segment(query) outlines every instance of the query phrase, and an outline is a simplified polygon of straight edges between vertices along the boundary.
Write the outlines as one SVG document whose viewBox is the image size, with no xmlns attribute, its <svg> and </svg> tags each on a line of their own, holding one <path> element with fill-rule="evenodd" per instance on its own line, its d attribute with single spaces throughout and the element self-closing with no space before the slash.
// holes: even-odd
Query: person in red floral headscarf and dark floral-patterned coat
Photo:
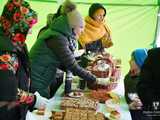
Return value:
<svg viewBox="0 0 160 120">
<path fill-rule="evenodd" d="M 26 112 L 48 100 L 29 93 L 30 68 L 25 44 L 37 22 L 28 2 L 8 0 L 0 17 L 0 120 L 25 120 Z"/>
</svg>

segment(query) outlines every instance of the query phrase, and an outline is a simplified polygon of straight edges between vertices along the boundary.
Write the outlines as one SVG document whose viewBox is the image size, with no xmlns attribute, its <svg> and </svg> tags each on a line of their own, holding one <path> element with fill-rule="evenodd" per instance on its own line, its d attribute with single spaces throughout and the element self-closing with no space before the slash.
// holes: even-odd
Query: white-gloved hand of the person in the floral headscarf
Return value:
<svg viewBox="0 0 160 120">
<path fill-rule="evenodd" d="M 42 97 L 38 92 L 35 92 L 36 102 L 34 107 L 38 109 L 45 109 L 46 105 L 49 103 L 49 100 L 45 97 Z"/>
</svg>

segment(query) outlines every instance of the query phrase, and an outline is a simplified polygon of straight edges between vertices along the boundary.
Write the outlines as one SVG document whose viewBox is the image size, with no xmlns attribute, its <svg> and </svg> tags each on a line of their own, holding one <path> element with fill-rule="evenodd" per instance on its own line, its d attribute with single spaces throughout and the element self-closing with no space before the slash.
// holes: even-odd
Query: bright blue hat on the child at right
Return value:
<svg viewBox="0 0 160 120">
<path fill-rule="evenodd" d="M 141 68 L 147 57 L 147 49 L 136 49 L 133 51 L 132 56 L 136 64 Z"/>
</svg>

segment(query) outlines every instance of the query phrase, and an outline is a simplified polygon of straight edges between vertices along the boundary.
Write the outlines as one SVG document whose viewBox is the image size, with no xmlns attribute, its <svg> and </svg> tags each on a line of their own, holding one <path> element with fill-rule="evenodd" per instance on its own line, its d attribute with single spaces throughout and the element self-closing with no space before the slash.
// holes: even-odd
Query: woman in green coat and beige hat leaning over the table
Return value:
<svg viewBox="0 0 160 120">
<path fill-rule="evenodd" d="M 70 70 L 74 75 L 95 83 L 95 76 L 78 65 L 72 52 L 83 26 L 82 16 L 73 9 L 55 18 L 38 37 L 30 52 L 32 91 L 50 97 L 48 87 L 55 79 L 57 68 Z"/>
</svg>

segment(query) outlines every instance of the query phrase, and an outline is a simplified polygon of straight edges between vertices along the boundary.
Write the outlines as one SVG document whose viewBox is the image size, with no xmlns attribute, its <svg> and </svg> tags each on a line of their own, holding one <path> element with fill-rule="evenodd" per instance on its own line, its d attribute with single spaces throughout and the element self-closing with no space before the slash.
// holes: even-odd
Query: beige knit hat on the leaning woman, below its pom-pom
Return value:
<svg viewBox="0 0 160 120">
<path fill-rule="evenodd" d="M 71 28 L 75 28 L 76 26 L 79 26 L 79 27 L 84 26 L 84 20 L 79 11 L 73 10 L 67 13 L 67 17 L 68 17 L 68 23 Z"/>
</svg>

